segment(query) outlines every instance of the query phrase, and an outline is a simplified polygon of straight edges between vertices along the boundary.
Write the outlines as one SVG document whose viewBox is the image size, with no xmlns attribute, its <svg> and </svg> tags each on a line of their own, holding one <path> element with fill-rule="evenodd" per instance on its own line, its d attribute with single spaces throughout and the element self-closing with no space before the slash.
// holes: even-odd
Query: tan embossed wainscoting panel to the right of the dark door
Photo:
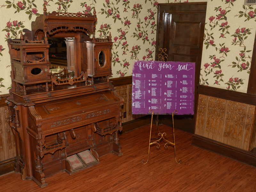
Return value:
<svg viewBox="0 0 256 192">
<path fill-rule="evenodd" d="M 250 151 L 255 106 L 199 94 L 195 134 Z"/>
</svg>

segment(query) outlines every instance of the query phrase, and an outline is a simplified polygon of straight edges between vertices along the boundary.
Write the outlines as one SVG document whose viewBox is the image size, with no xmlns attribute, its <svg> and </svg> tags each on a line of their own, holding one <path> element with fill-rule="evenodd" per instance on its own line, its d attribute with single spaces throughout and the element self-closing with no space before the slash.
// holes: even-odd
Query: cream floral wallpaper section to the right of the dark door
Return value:
<svg viewBox="0 0 256 192">
<path fill-rule="evenodd" d="M 243 4 L 242 0 L 208 1 L 200 84 L 247 91 L 256 6 Z"/>
</svg>

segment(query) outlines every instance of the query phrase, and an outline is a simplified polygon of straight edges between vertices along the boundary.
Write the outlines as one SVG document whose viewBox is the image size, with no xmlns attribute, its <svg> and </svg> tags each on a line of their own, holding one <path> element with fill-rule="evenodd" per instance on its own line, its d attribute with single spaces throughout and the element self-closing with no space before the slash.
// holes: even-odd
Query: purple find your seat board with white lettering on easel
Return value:
<svg viewBox="0 0 256 192">
<path fill-rule="evenodd" d="M 195 63 L 135 61 L 132 114 L 194 115 Z"/>
</svg>

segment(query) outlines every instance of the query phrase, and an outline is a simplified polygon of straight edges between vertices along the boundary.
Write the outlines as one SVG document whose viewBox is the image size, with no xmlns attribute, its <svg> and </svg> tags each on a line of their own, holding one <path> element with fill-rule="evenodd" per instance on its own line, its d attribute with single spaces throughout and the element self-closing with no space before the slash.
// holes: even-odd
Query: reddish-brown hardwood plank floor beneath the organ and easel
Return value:
<svg viewBox="0 0 256 192">
<path fill-rule="evenodd" d="M 155 126 L 152 136 L 155 135 Z M 159 126 L 172 140 L 172 128 Z M 153 131 L 154 130 L 154 131 Z M 123 156 L 108 154 L 100 164 L 73 175 L 61 172 L 46 178 L 48 186 L 39 188 L 34 181 L 21 180 L 20 174 L 0 177 L 0 191 L 25 192 L 253 192 L 256 191 L 256 168 L 190 145 L 192 134 L 175 129 L 174 148 L 150 147 L 147 160 L 150 125 L 120 135 Z"/>
</svg>

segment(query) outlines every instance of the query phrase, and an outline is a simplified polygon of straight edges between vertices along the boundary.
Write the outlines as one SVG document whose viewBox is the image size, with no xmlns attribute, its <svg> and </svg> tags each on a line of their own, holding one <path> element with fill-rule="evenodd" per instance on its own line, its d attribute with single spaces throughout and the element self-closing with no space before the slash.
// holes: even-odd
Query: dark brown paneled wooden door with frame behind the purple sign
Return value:
<svg viewBox="0 0 256 192">
<path fill-rule="evenodd" d="M 194 115 L 175 116 L 174 127 L 194 133 L 204 24 L 207 2 L 158 4 L 156 57 L 166 48 L 168 61 L 196 63 Z M 172 126 L 172 116 L 162 116 L 162 124 Z"/>
</svg>

